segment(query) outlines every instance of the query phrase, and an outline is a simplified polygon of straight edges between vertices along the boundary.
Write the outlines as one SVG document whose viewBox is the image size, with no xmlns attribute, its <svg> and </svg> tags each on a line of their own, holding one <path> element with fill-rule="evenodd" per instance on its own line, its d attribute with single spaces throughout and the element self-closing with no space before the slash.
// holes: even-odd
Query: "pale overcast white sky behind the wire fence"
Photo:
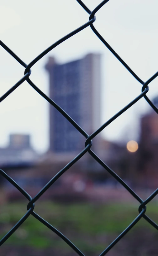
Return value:
<svg viewBox="0 0 158 256">
<path fill-rule="evenodd" d="M 85 0 L 94 9 L 98 0 Z M 96 14 L 94 26 L 144 81 L 158 70 L 158 1 L 110 0 Z M 67 33 L 88 21 L 89 15 L 75 0 L 5 0 L 0 4 L 0 36 L 25 63 Z M 122 66 L 88 27 L 57 46 L 32 67 L 31 79 L 48 94 L 48 74 L 44 66 L 49 56 L 59 62 L 71 61 L 89 52 L 102 57 L 102 124 L 141 93 L 141 84 Z M 24 74 L 18 64 L 0 48 L 0 95 Z M 150 84 L 148 96 L 158 94 L 157 81 Z M 108 140 L 136 139 L 138 120 L 149 110 L 141 99 L 103 132 Z M 24 82 L 0 103 L 0 146 L 8 143 L 13 132 L 30 133 L 35 149 L 49 145 L 48 103 Z M 98 127 L 101 124 L 98 124 Z"/>
</svg>

